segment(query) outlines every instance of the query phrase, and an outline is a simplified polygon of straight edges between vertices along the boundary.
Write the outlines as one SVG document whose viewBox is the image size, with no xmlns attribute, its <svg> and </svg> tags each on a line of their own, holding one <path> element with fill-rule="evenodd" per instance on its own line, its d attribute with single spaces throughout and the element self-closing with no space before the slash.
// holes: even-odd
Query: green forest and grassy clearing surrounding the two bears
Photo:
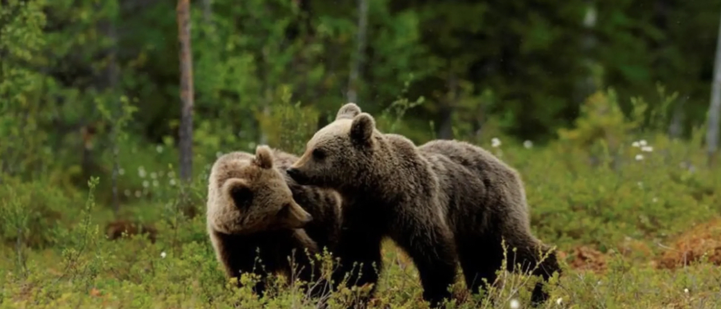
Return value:
<svg viewBox="0 0 721 309">
<path fill-rule="evenodd" d="M 721 1 L 0 0 L 0 309 L 320 308 L 225 276 L 208 176 L 347 102 L 518 170 L 563 269 L 541 308 L 721 307 Z M 369 308 L 428 308 L 382 255 Z M 531 308 L 536 279 L 445 308 Z"/>
</svg>

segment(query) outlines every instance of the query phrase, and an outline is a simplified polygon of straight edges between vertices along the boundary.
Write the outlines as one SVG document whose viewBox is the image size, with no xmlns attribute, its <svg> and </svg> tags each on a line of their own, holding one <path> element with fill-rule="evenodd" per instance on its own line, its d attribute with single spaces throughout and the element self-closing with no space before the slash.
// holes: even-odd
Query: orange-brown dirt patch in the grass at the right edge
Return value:
<svg viewBox="0 0 721 309">
<path fill-rule="evenodd" d="M 673 241 L 658 260 L 658 267 L 684 267 L 707 254 L 708 261 L 721 265 L 721 219 L 694 226 Z"/>
</svg>

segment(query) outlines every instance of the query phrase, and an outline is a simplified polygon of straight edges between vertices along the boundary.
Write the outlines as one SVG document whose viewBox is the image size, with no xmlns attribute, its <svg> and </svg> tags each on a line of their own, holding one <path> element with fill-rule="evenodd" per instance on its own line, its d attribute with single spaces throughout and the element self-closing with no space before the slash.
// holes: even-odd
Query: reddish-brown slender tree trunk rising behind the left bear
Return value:
<svg viewBox="0 0 721 309">
<path fill-rule="evenodd" d="M 190 1 L 178 0 L 178 39 L 180 41 L 180 179 L 193 177 L 193 58 L 190 49 Z"/>
</svg>

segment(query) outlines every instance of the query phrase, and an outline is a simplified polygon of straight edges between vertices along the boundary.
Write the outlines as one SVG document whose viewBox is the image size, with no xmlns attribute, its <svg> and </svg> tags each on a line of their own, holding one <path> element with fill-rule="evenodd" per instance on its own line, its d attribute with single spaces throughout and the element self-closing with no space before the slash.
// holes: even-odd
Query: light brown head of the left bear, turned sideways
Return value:
<svg viewBox="0 0 721 309">
<path fill-rule="evenodd" d="M 265 145 L 249 153 L 227 153 L 216 160 L 208 179 L 208 225 L 226 234 L 303 228 L 312 220 L 295 200 L 286 179 L 273 166 Z"/>
</svg>

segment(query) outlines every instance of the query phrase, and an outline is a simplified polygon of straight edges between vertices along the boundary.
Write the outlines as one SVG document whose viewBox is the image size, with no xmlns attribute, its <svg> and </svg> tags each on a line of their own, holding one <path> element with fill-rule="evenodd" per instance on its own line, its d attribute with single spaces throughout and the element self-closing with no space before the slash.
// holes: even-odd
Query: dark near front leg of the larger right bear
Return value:
<svg viewBox="0 0 721 309">
<path fill-rule="evenodd" d="M 456 248 L 446 225 L 430 216 L 413 217 L 397 216 L 407 219 L 394 225 L 391 237 L 413 260 L 423 285 L 423 299 L 436 308 L 451 297 L 448 287 L 456 279 Z"/>
</svg>

